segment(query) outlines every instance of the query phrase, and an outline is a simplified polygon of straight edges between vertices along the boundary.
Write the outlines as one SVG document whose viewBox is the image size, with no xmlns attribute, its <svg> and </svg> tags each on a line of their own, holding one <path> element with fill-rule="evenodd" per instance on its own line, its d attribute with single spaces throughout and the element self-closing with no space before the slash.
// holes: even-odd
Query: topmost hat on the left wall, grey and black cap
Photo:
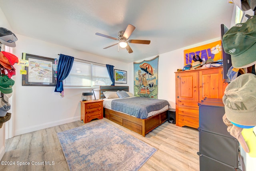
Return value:
<svg viewBox="0 0 256 171">
<path fill-rule="evenodd" d="M 17 37 L 13 32 L 7 30 L 6 28 L 0 28 L 0 42 L 9 47 L 16 47 L 15 42 L 17 41 Z"/>
</svg>

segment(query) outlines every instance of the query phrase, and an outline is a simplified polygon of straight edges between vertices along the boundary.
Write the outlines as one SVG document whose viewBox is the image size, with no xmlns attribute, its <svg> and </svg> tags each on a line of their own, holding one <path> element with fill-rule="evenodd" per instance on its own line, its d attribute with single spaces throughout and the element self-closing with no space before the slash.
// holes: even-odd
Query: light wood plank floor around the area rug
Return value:
<svg viewBox="0 0 256 171">
<path fill-rule="evenodd" d="M 178 127 L 166 121 L 142 137 L 106 118 L 122 131 L 133 135 L 155 147 L 156 153 L 140 168 L 140 171 L 199 171 L 198 130 L 190 127 Z M 92 122 L 96 122 L 94 120 Z M 15 136 L 6 140 L 6 152 L 1 161 L 14 162 L 15 165 L 0 165 L 0 171 L 65 171 L 66 159 L 60 146 L 57 132 L 84 125 L 82 121 L 66 123 L 31 133 Z M 32 161 L 36 164 L 32 165 Z M 51 162 L 54 162 L 53 163 Z M 30 162 L 30 165 L 23 165 Z M 41 162 L 41 163 L 40 163 Z M 52 165 L 45 165 L 45 162 Z M 22 164 L 18 166 L 17 163 Z"/>
</svg>

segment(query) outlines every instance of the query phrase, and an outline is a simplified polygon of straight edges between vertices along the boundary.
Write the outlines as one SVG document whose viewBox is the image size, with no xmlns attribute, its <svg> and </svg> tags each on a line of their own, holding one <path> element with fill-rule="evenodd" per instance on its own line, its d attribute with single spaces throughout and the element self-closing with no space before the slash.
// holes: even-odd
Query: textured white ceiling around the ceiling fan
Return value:
<svg viewBox="0 0 256 171">
<path fill-rule="evenodd" d="M 220 37 L 230 27 L 234 4 L 226 0 L 0 0 L 12 32 L 130 63 Z M 116 40 L 128 24 L 133 53 L 118 52 Z"/>
</svg>

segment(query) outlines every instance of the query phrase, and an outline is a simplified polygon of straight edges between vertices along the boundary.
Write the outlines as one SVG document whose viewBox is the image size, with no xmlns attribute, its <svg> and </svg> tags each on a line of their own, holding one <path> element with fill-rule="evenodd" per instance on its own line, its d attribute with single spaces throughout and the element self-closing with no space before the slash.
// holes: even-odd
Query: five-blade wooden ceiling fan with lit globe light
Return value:
<svg viewBox="0 0 256 171">
<path fill-rule="evenodd" d="M 131 36 L 132 32 L 135 30 L 135 27 L 132 26 L 131 24 L 128 24 L 127 28 L 125 31 L 120 31 L 118 32 L 118 38 L 114 38 L 114 37 L 111 37 L 111 36 L 107 36 L 107 35 L 104 35 L 104 34 L 100 34 L 100 33 L 95 33 L 96 35 L 98 36 L 102 36 L 102 37 L 105 37 L 105 38 L 110 38 L 110 39 L 113 39 L 113 40 L 118 40 L 119 42 L 116 43 L 116 44 L 112 44 L 106 48 L 103 48 L 103 49 L 107 49 L 107 48 L 110 48 L 112 46 L 115 46 L 115 45 L 119 45 L 120 48 L 126 48 L 126 50 L 128 51 L 128 53 L 132 53 L 132 49 L 131 47 L 129 46 L 128 43 L 135 43 L 135 44 L 150 44 L 150 40 L 128 40 L 128 38 Z"/>
</svg>

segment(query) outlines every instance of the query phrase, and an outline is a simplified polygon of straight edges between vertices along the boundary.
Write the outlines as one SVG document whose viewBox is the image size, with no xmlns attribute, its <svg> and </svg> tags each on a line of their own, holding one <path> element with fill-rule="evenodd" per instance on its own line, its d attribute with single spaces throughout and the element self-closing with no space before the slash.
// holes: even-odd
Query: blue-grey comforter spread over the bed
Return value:
<svg viewBox="0 0 256 171">
<path fill-rule="evenodd" d="M 150 111 L 160 110 L 166 105 L 169 105 L 167 100 L 132 97 L 112 100 L 111 109 L 146 119 Z"/>
</svg>

